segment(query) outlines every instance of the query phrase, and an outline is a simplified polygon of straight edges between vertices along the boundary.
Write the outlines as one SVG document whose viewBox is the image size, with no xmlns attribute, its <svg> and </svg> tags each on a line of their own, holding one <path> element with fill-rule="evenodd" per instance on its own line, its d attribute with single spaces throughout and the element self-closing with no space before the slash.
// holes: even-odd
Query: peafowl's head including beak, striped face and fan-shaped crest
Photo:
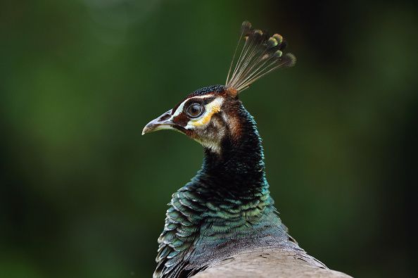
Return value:
<svg viewBox="0 0 418 278">
<path fill-rule="evenodd" d="M 235 61 L 240 46 L 241 53 Z M 241 123 L 247 120 L 241 117 L 244 108 L 239 101 L 239 93 L 272 70 L 296 63 L 293 54 L 282 52 L 285 46 L 281 35 L 269 36 L 266 32 L 254 30 L 251 23 L 245 21 L 227 83 L 204 87 L 189 94 L 174 108 L 148 122 L 142 134 L 172 129 L 219 153 L 224 139 L 240 138 Z"/>
</svg>

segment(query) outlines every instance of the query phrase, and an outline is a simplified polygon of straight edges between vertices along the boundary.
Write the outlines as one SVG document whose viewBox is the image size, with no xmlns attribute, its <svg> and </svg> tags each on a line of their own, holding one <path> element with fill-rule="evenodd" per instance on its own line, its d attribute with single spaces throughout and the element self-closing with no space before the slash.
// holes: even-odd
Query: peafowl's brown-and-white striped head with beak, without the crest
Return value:
<svg viewBox="0 0 418 278">
<path fill-rule="evenodd" d="M 224 137 L 239 137 L 239 115 L 236 113 L 239 105 L 234 89 L 223 85 L 204 87 L 148 122 L 142 134 L 172 129 L 218 152 Z"/>
</svg>

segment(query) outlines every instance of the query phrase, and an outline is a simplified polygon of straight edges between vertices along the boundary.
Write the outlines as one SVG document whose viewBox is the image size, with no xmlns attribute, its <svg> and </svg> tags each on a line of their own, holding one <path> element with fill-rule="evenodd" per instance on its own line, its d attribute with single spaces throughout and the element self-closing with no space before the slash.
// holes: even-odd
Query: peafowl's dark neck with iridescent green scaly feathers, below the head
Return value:
<svg viewBox="0 0 418 278">
<path fill-rule="evenodd" d="M 189 277 L 194 267 L 215 258 L 287 241 L 268 190 L 255 122 L 242 106 L 239 113 L 240 136 L 225 137 L 220 153 L 205 149 L 201 170 L 172 195 L 155 277 L 170 272 Z"/>
</svg>

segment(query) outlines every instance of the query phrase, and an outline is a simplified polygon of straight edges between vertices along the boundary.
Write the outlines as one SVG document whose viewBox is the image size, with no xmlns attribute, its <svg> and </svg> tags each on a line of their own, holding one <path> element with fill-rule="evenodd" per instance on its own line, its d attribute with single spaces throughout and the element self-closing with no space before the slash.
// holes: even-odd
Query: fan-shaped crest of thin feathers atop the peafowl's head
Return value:
<svg viewBox="0 0 418 278">
<path fill-rule="evenodd" d="M 267 32 L 253 29 L 251 23 L 244 21 L 241 25 L 241 37 L 229 67 L 226 87 L 238 94 L 272 70 L 295 65 L 296 57 L 292 53 L 283 53 L 285 47 L 286 42 L 280 34 L 270 36 Z M 239 49 L 241 51 L 235 61 Z"/>
</svg>

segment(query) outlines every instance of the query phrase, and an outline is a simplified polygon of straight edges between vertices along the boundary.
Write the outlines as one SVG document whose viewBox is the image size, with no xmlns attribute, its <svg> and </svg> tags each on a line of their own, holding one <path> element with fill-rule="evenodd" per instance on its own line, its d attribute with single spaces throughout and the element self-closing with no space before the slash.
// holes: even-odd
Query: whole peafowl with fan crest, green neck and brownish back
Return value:
<svg viewBox="0 0 418 278">
<path fill-rule="evenodd" d="M 270 196 L 255 120 L 239 100 L 255 80 L 295 65 L 285 47 L 280 34 L 244 21 L 226 84 L 192 92 L 144 127 L 142 134 L 186 134 L 204 149 L 201 170 L 172 195 L 153 277 L 349 277 L 289 235 Z"/>
</svg>

